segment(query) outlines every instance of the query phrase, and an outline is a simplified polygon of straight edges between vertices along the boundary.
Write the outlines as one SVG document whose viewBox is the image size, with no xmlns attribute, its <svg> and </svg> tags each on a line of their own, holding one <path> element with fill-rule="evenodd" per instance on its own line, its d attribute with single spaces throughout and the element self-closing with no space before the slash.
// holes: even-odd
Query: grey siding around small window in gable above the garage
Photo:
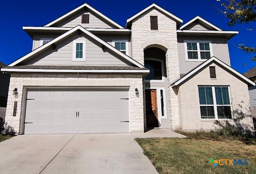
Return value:
<svg viewBox="0 0 256 174">
<path fill-rule="evenodd" d="M 73 40 L 86 41 L 86 61 L 72 61 Z M 92 39 L 91 39 L 92 40 Z M 56 49 L 51 47 L 43 53 L 34 56 L 32 59 L 22 63 L 23 65 L 83 65 L 83 66 L 127 66 L 130 63 L 121 61 L 120 56 L 106 49 L 101 49 L 101 45 L 88 40 L 86 35 L 72 35 L 69 38 L 56 44 Z"/>
</svg>

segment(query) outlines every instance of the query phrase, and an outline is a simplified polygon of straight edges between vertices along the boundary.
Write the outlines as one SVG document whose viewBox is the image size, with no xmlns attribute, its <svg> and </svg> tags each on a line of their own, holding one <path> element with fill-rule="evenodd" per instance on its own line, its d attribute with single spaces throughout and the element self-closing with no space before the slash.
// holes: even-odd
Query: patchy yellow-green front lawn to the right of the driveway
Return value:
<svg viewBox="0 0 256 174">
<path fill-rule="evenodd" d="M 256 171 L 255 139 L 226 139 L 211 133 L 184 133 L 189 138 L 135 139 L 160 174 L 252 174 Z M 248 159 L 249 165 L 217 165 L 210 158 Z"/>
</svg>

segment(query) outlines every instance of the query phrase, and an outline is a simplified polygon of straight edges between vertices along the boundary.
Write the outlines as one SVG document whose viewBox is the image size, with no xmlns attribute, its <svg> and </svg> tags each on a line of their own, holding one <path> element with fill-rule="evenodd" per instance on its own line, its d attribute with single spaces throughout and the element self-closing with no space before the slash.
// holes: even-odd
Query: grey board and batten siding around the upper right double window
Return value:
<svg viewBox="0 0 256 174">
<path fill-rule="evenodd" d="M 191 69 L 203 63 L 203 61 L 186 61 L 186 52 L 184 40 L 209 40 L 212 42 L 213 56 L 217 57 L 224 63 L 230 66 L 229 49 L 225 38 L 220 37 L 193 37 L 193 36 L 178 36 L 178 54 L 179 68 L 181 74 L 186 74 Z"/>
</svg>

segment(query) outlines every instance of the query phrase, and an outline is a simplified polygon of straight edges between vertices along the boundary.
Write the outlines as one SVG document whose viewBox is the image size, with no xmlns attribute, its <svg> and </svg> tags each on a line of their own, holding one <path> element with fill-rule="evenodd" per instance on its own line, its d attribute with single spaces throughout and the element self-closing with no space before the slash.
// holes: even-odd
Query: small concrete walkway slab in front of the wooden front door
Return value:
<svg viewBox="0 0 256 174">
<path fill-rule="evenodd" d="M 145 133 L 133 133 L 133 136 L 135 138 L 187 138 L 187 136 L 170 129 L 151 129 Z"/>
</svg>

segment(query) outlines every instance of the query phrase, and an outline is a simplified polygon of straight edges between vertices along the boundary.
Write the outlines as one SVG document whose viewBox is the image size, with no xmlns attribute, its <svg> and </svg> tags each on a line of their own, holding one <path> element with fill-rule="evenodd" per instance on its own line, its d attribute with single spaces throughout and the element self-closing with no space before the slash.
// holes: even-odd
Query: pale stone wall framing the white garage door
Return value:
<svg viewBox="0 0 256 174">
<path fill-rule="evenodd" d="M 22 97 L 25 87 L 129 87 L 131 131 L 144 131 L 143 95 L 135 96 L 135 88 L 142 94 L 142 75 L 134 74 L 11 74 L 5 121 L 19 134 L 22 113 Z M 18 89 L 18 97 L 12 90 Z M 17 116 L 13 117 L 13 103 L 17 101 Z"/>
</svg>

